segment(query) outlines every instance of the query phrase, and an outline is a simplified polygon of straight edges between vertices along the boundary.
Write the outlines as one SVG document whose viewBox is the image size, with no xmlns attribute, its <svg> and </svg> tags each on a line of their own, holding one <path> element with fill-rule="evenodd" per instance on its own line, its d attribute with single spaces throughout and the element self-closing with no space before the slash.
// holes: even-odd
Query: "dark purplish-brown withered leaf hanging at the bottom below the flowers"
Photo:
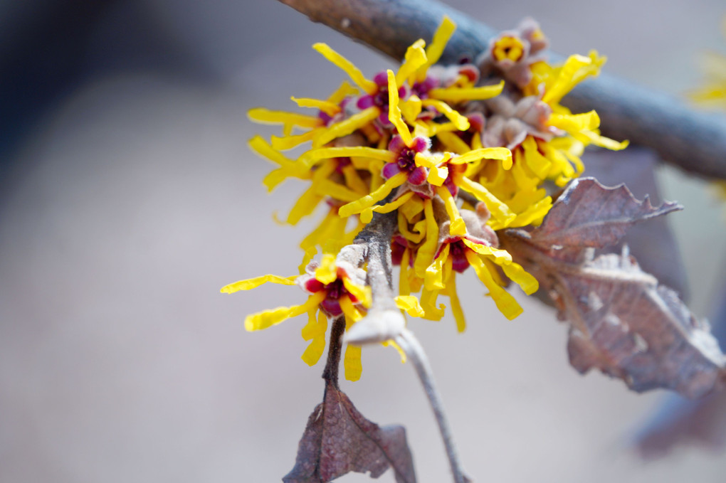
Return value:
<svg viewBox="0 0 726 483">
<path fill-rule="evenodd" d="M 295 467 L 285 483 L 325 483 L 350 471 L 378 478 L 393 468 L 398 483 L 415 483 L 413 458 L 403 426 L 368 421 L 345 393 L 328 382 L 325 398 L 308 418 Z"/>
</svg>

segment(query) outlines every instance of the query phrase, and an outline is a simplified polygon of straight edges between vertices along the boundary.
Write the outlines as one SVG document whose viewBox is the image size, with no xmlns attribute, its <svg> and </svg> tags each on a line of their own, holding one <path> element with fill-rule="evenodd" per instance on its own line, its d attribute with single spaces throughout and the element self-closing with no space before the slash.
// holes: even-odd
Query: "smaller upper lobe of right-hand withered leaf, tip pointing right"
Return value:
<svg viewBox="0 0 726 483">
<path fill-rule="evenodd" d="M 553 249 L 554 257 L 573 260 L 583 247 L 616 244 L 638 221 L 682 209 L 673 202 L 654 208 L 648 197 L 639 202 L 624 184 L 605 188 L 595 178 L 579 178 L 558 197 L 542 225 L 534 228 L 532 243 Z"/>
</svg>

